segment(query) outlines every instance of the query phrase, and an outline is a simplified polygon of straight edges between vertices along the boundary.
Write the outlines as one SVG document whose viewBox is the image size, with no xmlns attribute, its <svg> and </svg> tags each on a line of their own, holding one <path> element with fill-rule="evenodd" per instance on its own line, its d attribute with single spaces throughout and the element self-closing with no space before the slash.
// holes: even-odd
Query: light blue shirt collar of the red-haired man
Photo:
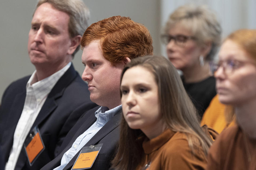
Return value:
<svg viewBox="0 0 256 170">
<path fill-rule="evenodd" d="M 119 113 L 122 109 L 122 105 L 119 105 L 113 109 L 110 109 L 101 106 L 96 112 L 95 112 L 95 117 L 106 117 L 106 120 L 109 121 L 112 117 L 114 117 L 117 113 Z"/>
</svg>

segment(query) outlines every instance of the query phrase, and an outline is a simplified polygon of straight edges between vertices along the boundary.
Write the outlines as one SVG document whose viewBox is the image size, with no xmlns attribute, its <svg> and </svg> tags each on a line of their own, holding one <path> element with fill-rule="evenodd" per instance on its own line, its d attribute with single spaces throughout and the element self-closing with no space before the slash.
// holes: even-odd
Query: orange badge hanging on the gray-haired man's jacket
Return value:
<svg viewBox="0 0 256 170">
<path fill-rule="evenodd" d="M 30 166 L 33 165 L 37 157 L 45 149 L 41 134 L 37 126 L 27 135 L 24 142 L 25 151 L 29 160 Z"/>
</svg>

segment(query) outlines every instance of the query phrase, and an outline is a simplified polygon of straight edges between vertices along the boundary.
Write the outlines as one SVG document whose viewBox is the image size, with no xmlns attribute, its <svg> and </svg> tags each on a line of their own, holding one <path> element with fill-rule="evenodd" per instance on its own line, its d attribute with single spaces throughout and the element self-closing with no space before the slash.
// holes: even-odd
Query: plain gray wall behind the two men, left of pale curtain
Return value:
<svg viewBox="0 0 256 170">
<path fill-rule="evenodd" d="M 154 51 L 160 54 L 159 7 L 157 0 L 84 0 L 90 9 L 89 24 L 114 15 L 129 16 L 135 22 L 144 24 L 154 41 Z M 0 97 L 5 88 L 14 80 L 32 74 L 35 67 L 27 53 L 28 33 L 32 19 L 35 0 L 2 0 L 0 2 Z M 73 60 L 76 70 L 83 72 L 81 63 L 82 50 Z M 0 99 L 0 100 L 1 100 Z"/>
</svg>

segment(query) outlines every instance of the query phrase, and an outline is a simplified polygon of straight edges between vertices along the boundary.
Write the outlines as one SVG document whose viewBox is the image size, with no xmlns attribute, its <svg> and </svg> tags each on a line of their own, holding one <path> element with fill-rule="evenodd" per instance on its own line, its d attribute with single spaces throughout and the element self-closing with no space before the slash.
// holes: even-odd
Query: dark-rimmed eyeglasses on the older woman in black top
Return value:
<svg viewBox="0 0 256 170">
<path fill-rule="evenodd" d="M 178 34 L 176 36 L 163 34 L 163 35 L 161 35 L 161 40 L 166 45 L 168 43 L 170 43 L 171 40 L 174 40 L 175 44 L 177 44 L 179 46 L 185 46 L 185 44 L 188 40 L 196 40 L 196 38 L 193 36 L 186 36 L 186 35 L 182 35 L 182 34 Z"/>
</svg>

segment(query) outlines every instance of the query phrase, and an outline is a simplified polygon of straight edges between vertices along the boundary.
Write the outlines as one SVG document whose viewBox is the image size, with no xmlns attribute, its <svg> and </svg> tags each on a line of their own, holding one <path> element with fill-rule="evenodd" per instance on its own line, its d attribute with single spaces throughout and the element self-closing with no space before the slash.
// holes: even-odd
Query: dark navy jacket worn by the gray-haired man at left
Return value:
<svg viewBox="0 0 256 170">
<path fill-rule="evenodd" d="M 19 79 L 7 87 L 0 107 L 0 154 L 7 162 L 13 145 L 16 125 L 21 116 L 26 97 L 26 83 L 30 76 Z M 63 74 L 49 93 L 31 130 L 38 126 L 45 150 L 30 167 L 25 149 L 22 147 L 15 169 L 40 169 L 54 158 L 54 150 L 61 145 L 68 131 L 81 114 L 73 111 L 84 104 L 89 110 L 97 106 L 90 101 L 88 86 L 73 65 Z M 5 165 L 3 165 L 5 166 Z"/>
</svg>

